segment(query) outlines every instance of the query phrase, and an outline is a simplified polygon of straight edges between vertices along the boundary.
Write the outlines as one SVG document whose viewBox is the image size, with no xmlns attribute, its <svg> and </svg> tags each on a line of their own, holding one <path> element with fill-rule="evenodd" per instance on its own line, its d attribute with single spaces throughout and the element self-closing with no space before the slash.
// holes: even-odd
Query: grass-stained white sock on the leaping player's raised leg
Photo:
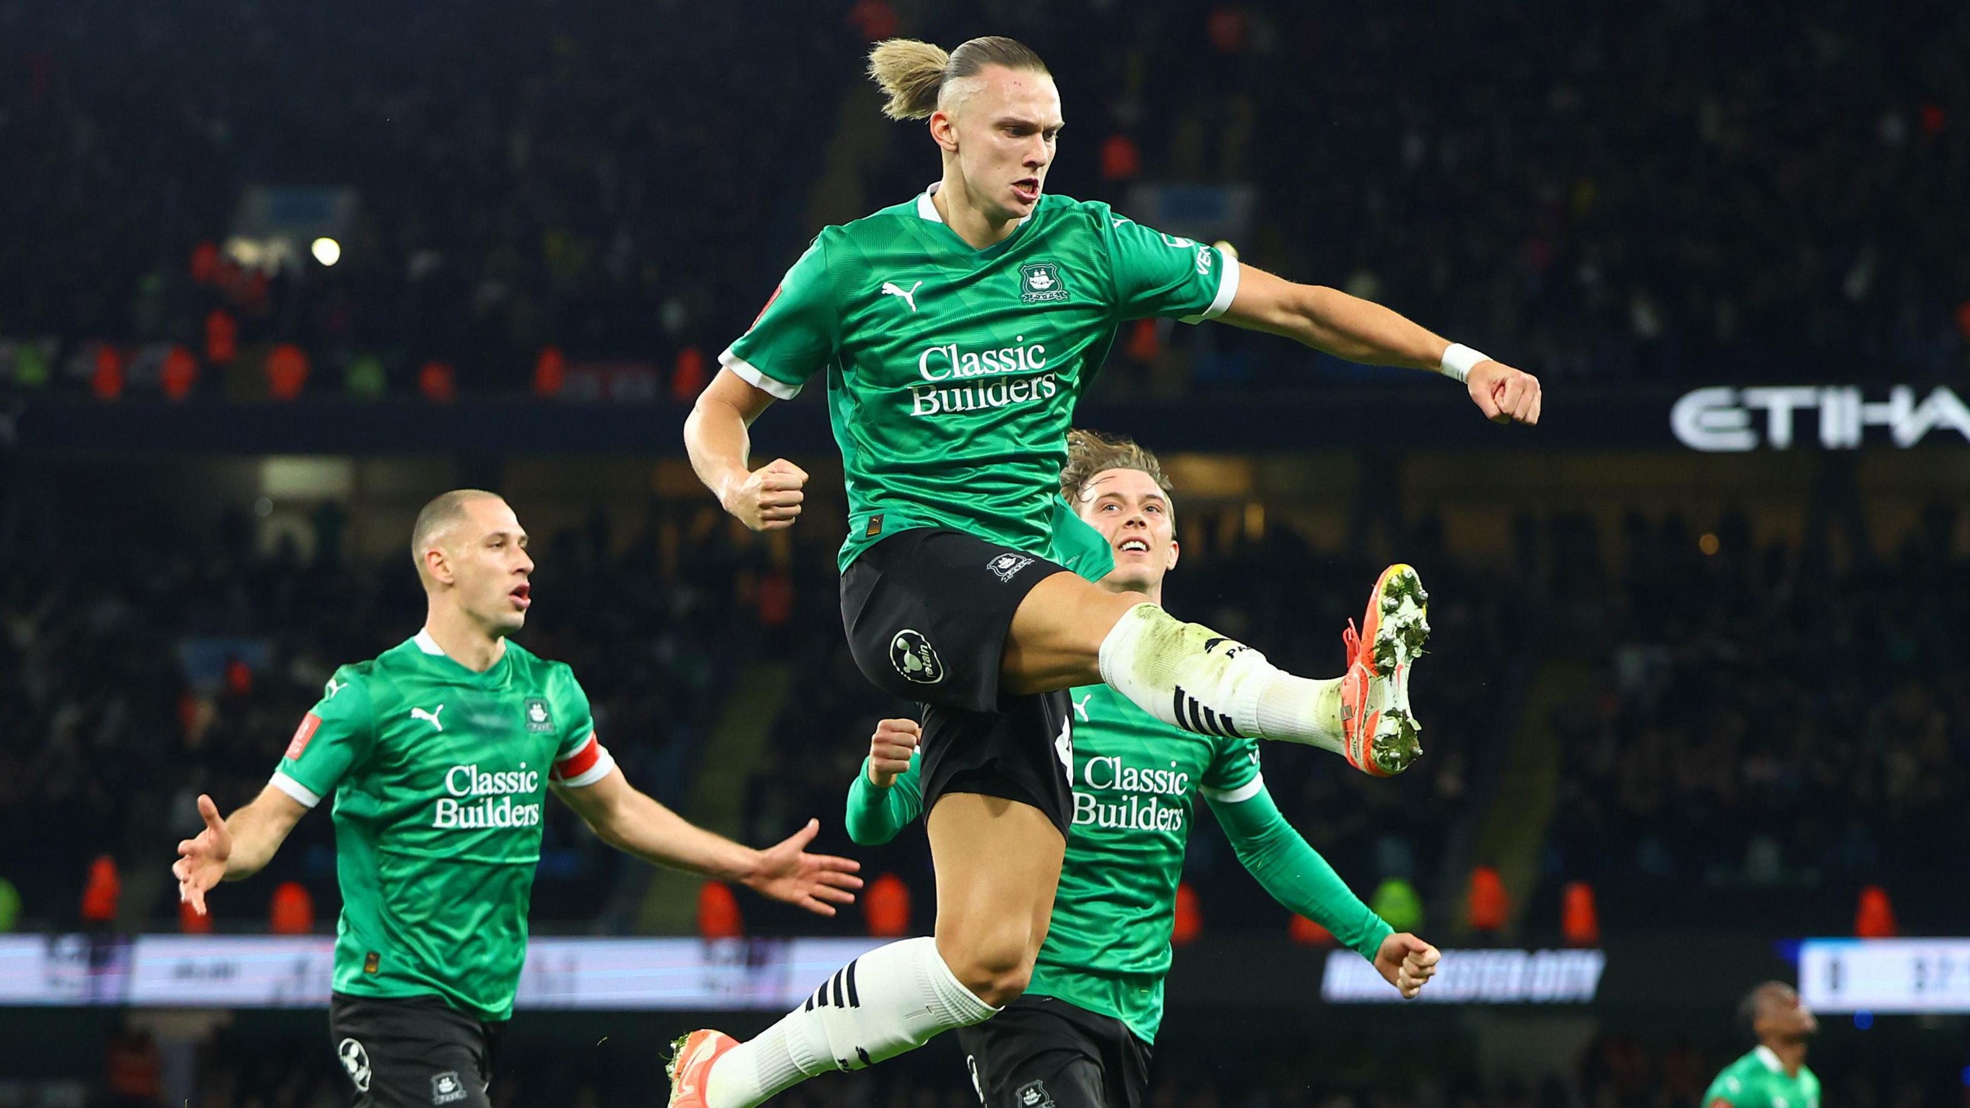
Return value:
<svg viewBox="0 0 1970 1108">
<path fill-rule="evenodd" d="M 1342 678 L 1292 676 L 1259 651 L 1154 603 L 1131 607 L 1101 641 L 1101 680 L 1186 731 L 1344 753 Z"/>
</svg>

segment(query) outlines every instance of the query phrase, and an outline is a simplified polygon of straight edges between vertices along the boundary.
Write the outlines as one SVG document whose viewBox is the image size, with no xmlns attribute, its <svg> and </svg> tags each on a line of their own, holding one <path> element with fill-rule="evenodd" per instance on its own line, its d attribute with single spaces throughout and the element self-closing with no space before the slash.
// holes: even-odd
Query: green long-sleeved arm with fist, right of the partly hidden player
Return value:
<svg viewBox="0 0 1970 1108">
<path fill-rule="evenodd" d="M 1436 948 L 1414 935 L 1397 933 L 1355 897 L 1326 858 L 1279 814 L 1261 785 L 1245 800 L 1212 800 L 1212 812 L 1245 869 L 1273 899 L 1326 927 L 1369 962 L 1405 998 L 1416 996 L 1436 974 Z"/>
</svg>

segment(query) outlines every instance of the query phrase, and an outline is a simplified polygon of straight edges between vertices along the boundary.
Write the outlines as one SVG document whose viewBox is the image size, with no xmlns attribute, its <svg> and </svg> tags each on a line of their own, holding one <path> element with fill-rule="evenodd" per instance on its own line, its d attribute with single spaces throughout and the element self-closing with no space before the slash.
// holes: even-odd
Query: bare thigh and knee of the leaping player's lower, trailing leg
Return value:
<svg viewBox="0 0 1970 1108">
<path fill-rule="evenodd" d="M 946 793 L 924 820 L 938 869 L 938 954 L 979 1000 L 1026 992 L 1068 840 L 1040 808 Z"/>
</svg>

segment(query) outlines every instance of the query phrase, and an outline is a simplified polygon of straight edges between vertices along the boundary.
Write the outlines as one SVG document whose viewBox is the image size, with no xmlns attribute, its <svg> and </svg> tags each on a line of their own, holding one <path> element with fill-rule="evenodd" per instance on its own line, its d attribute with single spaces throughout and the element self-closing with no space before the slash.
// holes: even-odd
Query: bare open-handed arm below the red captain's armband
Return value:
<svg viewBox="0 0 1970 1108">
<path fill-rule="evenodd" d="M 833 905 L 853 903 L 853 889 L 861 887 L 861 877 L 855 875 L 859 862 L 806 852 L 821 828 L 820 820 L 808 820 L 808 826 L 776 846 L 753 850 L 658 804 L 634 789 L 621 769 L 611 769 L 593 785 L 556 785 L 556 793 L 597 838 L 652 866 L 739 881 L 816 915 L 835 915 Z"/>
</svg>

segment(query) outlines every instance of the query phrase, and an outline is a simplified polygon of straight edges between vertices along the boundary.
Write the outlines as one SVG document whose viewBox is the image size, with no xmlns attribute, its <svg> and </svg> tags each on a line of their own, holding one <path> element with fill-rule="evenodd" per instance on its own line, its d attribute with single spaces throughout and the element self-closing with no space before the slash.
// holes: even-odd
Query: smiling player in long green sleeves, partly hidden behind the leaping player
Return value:
<svg viewBox="0 0 1970 1108">
<path fill-rule="evenodd" d="M 1162 603 L 1176 568 L 1170 481 L 1129 440 L 1068 434 L 1060 493 L 1099 532 L 1109 591 Z M 1172 727 L 1105 684 L 1068 692 L 1074 706 L 1074 828 L 1054 919 L 1026 994 L 975 1027 L 959 1027 L 971 1080 L 987 1108 L 1141 1108 L 1162 1023 L 1162 978 L 1184 844 L 1202 795 L 1239 862 L 1273 897 L 1369 958 L 1405 998 L 1436 972 L 1436 948 L 1395 935 L 1273 804 L 1251 737 Z M 849 787 L 847 828 L 888 842 L 922 814 L 920 727 L 883 720 Z"/>
</svg>

